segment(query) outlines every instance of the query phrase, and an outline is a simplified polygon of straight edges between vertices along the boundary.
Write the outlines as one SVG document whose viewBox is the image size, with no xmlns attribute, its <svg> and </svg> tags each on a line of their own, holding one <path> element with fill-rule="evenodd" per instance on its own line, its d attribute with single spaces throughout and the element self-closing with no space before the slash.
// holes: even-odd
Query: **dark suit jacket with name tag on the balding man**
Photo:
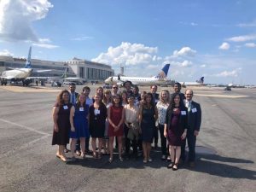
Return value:
<svg viewBox="0 0 256 192">
<path fill-rule="evenodd" d="M 200 131 L 201 127 L 201 107 L 197 102 L 191 102 L 191 108 L 188 113 L 189 132 Z"/>
</svg>

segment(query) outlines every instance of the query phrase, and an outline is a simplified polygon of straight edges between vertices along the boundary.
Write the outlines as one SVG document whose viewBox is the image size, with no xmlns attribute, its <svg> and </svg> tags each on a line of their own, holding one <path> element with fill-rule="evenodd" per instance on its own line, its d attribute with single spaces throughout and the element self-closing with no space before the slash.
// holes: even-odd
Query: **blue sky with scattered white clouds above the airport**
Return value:
<svg viewBox="0 0 256 192">
<path fill-rule="evenodd" d="M 0 55 L 102 62 L 125 75 L 256 84 L 254 0 L 0 0 Z"/>
</svg>

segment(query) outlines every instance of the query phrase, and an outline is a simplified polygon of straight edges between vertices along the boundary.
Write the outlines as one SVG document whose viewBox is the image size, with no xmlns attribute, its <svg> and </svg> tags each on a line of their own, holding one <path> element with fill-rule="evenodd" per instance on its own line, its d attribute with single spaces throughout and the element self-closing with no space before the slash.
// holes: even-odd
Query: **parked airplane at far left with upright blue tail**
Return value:
<svg viewBox="0 0 256 192">
<path fill-rule="evenodd" d="M 31 65 L 31 53 L 32 47 L 29 48 L 26 64 L 23 68 L 12 68 L 11 70 L 3 71 L 0 80 L 1 85 L 7 85 L 7 82 L 22 82 L 22 84 L 27 86 L 31 83 L 31 79 L 28 77 L 32 74 L 32 65 Z M 38 70 L 38 73 L 47 72 L 50 70 Z"/>
</svg>

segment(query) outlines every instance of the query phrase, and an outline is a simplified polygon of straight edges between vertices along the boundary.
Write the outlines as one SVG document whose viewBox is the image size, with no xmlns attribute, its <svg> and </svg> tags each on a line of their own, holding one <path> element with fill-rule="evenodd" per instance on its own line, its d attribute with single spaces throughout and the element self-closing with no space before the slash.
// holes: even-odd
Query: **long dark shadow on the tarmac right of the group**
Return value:
<svg viewBox="0 0 256 192">
<path fill-rule="evenodd" d="M 198 160 L 194 172 L 204 172 L 218 177 L 256 179 L 256 172 L 243 168 L 244 164 L 254 164 L 252 160 L 224 157 L 218 154 L 196 154 Z M 236 165 L 230 165 L 234 163 Z M 240 164 L 240 165 L 237 165 Z"/>
</svg>

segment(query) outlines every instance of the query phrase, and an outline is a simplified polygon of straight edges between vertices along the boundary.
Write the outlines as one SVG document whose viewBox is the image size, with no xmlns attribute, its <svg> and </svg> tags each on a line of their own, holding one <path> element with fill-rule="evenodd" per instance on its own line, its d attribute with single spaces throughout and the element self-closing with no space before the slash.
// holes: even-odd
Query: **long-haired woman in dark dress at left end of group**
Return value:
<svg viewBox="0 0 256 192">
<path fill-rule="evenodd" d="M 57 102 L 53 108 L 54 131 L 52 145 L 59 145 L 56 156 L 63 161 L 67 161 L 64 148 L 69 143 L 70 122 L 69 115 L 72 103 L 69 102 L 68 90 L 62 90 L 57 96 Z"/>
</svg>

